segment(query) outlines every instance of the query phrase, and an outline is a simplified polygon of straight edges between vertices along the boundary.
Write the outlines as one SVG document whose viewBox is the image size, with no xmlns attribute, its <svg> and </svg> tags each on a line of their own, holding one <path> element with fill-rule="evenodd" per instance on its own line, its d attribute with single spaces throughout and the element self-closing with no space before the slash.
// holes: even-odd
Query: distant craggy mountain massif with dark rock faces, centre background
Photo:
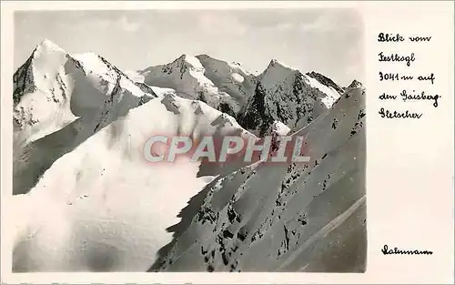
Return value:
<svg viewBox="0 0 455 285">
<path fill-rule="evenodd" d="M 207 55 L 183 55 L 138 74 L 150 86 L 172 88 L 180 97 L 207 102 L 258 135 L 266 134 L 274 121 L 290 128 L 304 127 L 344 92 L 327 76 L 302 74 L 275 59 L 259 76 L 238 63 Z"/>
</svg>

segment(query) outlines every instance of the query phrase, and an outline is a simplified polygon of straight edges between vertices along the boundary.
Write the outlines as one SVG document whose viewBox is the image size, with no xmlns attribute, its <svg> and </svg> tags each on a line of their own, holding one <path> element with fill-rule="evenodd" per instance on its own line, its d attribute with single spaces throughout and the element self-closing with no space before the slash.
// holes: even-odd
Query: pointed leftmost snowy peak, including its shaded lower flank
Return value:
<svg viewBox="0 0 455 285">
<path fill-rule="evenodd" d="M 128 110 L 157 97 L 93 53 L 68 55 L 45 40 L 14 76 L 14 190 Z"/>
</svg>

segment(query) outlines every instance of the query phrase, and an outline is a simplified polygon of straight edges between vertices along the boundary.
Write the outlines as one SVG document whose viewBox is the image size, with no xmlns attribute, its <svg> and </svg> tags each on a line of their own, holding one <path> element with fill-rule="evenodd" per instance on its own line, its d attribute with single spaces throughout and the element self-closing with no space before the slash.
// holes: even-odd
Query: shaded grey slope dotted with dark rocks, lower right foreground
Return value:
<svg viewBox="0 0 455 285">
<path fill-rule="evenodd" d="M 307 164 L 261 164 L 219 178 L 151 270 L 363 271 L 365 98 L 353 89 L 295 135 Z"/>
</svg>

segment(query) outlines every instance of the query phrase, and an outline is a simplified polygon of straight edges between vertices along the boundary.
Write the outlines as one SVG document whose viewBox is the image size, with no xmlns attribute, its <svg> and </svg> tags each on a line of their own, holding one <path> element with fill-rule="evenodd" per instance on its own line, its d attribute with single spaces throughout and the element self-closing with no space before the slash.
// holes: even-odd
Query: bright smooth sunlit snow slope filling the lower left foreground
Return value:
<svg viewBox="0 0 455 285">
<path fill-rule="evenodd" d="M 145 142 L 163 134 L 252 136 L 232 117 L 174 95 L 131 109 L 58 158 L 28 194 L 14 197 L 24 209 L 14 269 L 147 270 L 172 239 L 166 229 L 179 210 L 213 178 L 186 158 L 148 163 Z M 47 143 L 61 137 L 55 139 Z"/>
</svg>

